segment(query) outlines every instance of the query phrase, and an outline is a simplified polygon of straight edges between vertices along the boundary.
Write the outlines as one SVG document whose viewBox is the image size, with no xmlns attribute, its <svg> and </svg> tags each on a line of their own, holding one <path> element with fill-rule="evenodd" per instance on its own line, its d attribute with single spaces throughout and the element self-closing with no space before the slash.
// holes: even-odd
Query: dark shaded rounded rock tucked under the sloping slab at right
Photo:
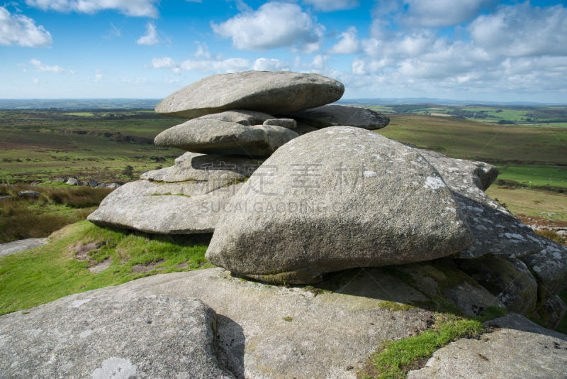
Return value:
<svg viewBox="0 0 567 379">
<path fill-rule="evenodd" d="M 524 316 L 537 301 L 537 281 L 518 259 L 455 259 L 452 263 L 504 303 L 508 312 Z"/>
</svg>

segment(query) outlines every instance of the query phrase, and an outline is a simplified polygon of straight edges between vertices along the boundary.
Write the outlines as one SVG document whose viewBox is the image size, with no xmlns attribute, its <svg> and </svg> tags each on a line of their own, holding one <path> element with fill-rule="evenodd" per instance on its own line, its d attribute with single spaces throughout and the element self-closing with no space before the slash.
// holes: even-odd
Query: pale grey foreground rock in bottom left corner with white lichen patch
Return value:
<svg viewBox="0 0 567 379">
<path fill-rule="evenodd" d="M 2 378 L 234 378 L 190 297 L 90 291 L 0 317 Z"/>
</svg>

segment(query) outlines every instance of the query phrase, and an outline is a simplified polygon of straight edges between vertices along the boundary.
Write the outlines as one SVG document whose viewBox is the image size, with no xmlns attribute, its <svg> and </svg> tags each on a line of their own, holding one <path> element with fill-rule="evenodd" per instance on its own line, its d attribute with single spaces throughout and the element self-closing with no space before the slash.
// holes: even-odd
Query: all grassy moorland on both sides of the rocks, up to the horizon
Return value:
<svg viewBox="0 0 567 379">
<path fill-rule="evenodd" d="M 546 114 L 545 109 L 434 104 L 369 108 L 391 117 L 390 125 L 377 131 L 383 136 L 497 166 L 500 177 L 487 193 L 522 221 L 567 226 L 567 119 L 544 122 L 561 120 L 566 109 Z M 471 109 L 477 114 L 490 111 L 481 118 L 463 113 Z M 549 118 L 527 121 L 527 112 L 532 120 L 539 117 L 535 114 Z M 205 259 L 210 235 L 172 237 L 99 228 L 84 219 L 111 189 L 47 182 L 75 176 L 120 184 L 136 180 L 144 170 L 173 165 L 184 152 L 160 148 L 152 140 L 181 122 L 142 108 L 0 110 L 0 180 L 7 184 L 0 186 L 0 197 L 6 196 L 0 199 L 0 243 L 51 234 L 50 243 L 41 248 L 0 257 L 0 315 L 26 313 L 66 295 L 147 275 L 212 267 Z M 20 199 L 17 194 L 24 189 L 40 192 L 40 198 Z M 549 237 L 566 243 L 556 234 Z M 567 301 L 567 292 L 560 296 Z M 475 322 L 466 317 L 458 321 Z M 470 334 L 459 330 L 456 335 Z M 567 322 L 556 330 L 565 333 Z M 447 341 L 451 339 L 452 334 Z M 434 351 L 447 341 L 424 346 L 434 346 Z"/>
</svg>

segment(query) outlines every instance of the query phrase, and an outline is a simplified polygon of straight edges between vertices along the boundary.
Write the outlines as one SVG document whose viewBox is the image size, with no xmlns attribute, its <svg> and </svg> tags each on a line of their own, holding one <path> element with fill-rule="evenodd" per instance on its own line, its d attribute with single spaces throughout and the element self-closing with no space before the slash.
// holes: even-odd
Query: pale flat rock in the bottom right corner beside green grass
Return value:
<svg viewBox="0 0 567 379">
<path fill-rule="evenodd" d="M 459 339 L 436 351 L 408 379 L 567 378 L 567 336 L 520 314 L 486 322 L 481 339 Z"/>
</svg>

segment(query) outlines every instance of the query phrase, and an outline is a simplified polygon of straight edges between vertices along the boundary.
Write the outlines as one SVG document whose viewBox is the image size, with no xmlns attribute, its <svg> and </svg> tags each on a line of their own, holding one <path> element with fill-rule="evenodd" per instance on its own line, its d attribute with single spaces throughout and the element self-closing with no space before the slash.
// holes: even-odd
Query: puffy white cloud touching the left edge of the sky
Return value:
<svg viewBox="0 0 567 379">
<path fill-rule="evenodd" d="M 0 6 L 0 45 L 20 45 L 40 48 L 52 43 L 51 34 L 43 26 L 35 26 L 33 19 L 12 15 Z"/>
</svg>

